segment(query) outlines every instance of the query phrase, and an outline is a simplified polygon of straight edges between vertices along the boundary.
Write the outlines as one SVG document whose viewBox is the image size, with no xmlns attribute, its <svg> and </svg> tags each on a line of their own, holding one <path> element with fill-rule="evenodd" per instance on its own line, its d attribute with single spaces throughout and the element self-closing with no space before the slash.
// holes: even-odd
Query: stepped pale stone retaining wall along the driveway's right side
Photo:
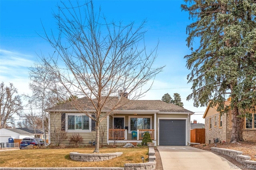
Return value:
<svg viewBox="0 0 256 170">
<path fill-rule="evenodd" d="M 225 148 L 214 148 L 212 147 L 211 150 L 230 156 L 231 158 L 237 160 L 241 164 L 243 164 L 245 169 L 255 169 L 256 170 L 256 161 L 250 160 L 250 156 L 242 155 L 243 152 L 237 151 L 237 150 L 231 150 L 231 149 L 225 149 Z"/>
</svg>

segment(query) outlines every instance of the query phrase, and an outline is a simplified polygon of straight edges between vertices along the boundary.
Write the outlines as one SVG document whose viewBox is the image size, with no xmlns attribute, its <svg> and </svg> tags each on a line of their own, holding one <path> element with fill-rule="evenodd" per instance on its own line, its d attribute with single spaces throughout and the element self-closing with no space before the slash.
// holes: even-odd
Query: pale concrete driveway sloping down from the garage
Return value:
<svg viewBox="0 0 256 170">
<path fill-rule="evenodd" d="M 191 146 L 158 146 L 164 170 L 240 170 L 212 152 Z"/>
</svg>

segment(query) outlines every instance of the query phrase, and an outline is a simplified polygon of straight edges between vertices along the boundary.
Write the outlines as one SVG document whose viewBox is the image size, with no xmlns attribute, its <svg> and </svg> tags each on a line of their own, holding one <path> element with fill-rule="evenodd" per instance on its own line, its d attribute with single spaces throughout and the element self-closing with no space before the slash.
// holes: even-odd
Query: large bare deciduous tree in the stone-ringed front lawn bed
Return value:
<svg viewBox="0 0 256 170">
<path fill-rule="evenodd" d="M 48 34 L 44 28 L 44 38 L 54 47 L 57 56 L 49 67 L 68 91 L 68 96 L 86 97 L 90 101 L 72 103 L 75 109 L 96 122 L 94 152 L 98 153 L 100 123 L 115 113 L 122 100 L 117 100 L 108 111 L 104 110 L 106 103 L 111 102 L 110 98 L 117 93 L 121 96 L 125 93 L 129 99 L 142 97 L 152 84 L 144 91 L 142 87 L 154 80 L 163 66 L 153 65 L 157 45 L 151 51 L 146 50 L 145 21 L 137 28 L 133 22 L 123 26 L 121 22 L 108 22 L 100 16 L 101 13 L 94 10 L 92 1 L 86 4 L 77 2 L 77 5 L 72 3 L 70 1 L 68 6 L 63 2 L 58 6 L 58 13 L 54 14 L 58 34 Z M 83 109 L 88 106 L 92 106 L 94 112 Z"/>
</svg>

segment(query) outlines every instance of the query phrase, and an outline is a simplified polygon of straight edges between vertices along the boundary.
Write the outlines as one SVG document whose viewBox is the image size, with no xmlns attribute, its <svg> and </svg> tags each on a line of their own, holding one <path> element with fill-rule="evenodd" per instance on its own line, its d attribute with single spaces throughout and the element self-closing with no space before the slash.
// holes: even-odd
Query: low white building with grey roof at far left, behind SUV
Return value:
<svg viewBox="0 0 256 170">
<path fill-rule="evenodd" d="M 23 139 L 23 138 L 44 138 L 42 130 L 36 129 L 36 133 L 33 128 L 1 128 L 0 129 L 0 142 L 8 142 L 9 138 Z M 48 139 L 48 134 L 46 134 Z"/>
</svg>

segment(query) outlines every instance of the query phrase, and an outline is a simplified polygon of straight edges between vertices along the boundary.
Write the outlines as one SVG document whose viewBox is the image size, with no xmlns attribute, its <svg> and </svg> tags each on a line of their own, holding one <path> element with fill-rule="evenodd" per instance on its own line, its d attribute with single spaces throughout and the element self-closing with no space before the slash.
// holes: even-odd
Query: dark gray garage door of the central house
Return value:
<svg viewBox="0 0 256 170">
<path fill-rule="evenodd" d="M 160 120 L 159 145 L 185 146 L 186 120 Z"/>
</svg>

